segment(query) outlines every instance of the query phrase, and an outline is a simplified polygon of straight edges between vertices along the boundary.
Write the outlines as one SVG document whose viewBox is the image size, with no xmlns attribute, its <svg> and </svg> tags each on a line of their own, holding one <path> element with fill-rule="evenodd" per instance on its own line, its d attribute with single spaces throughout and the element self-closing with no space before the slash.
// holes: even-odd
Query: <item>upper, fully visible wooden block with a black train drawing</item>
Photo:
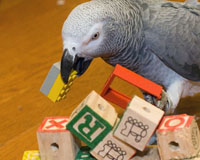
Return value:
<svg viewBox="0 0 200 160">
<path fill-rule="evenodd" d="M 114 136 L 143 151 L 164 112 L 135 96 L 114 131 Z"/>
</svg>

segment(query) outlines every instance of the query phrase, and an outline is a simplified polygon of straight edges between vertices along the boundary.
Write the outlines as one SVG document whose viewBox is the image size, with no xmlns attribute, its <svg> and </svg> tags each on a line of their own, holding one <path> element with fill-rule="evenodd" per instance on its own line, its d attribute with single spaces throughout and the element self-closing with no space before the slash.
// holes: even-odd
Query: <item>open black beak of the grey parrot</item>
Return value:
<svg viewBox="0 0 200 160">
<path fill-rule="evenodd" d="M 61 77 L 64 83 L 68 82 L 73 69 L 77 71 L 77 76 L 81 76 L 85 73 L 91 62 L 91 58 L 78 57 L 77 55 L 74 58 L 68 49 L 65 49 L 61 59 Z"/>
</svg>

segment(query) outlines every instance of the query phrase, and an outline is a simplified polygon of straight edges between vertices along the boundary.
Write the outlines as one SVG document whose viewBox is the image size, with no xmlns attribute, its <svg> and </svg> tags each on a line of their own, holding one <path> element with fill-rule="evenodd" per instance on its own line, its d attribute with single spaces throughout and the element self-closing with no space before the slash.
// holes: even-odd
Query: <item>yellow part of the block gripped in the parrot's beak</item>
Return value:
<svg viewBox="0 0 200 160">
<path fill-rule="evenodd" d="M 58 102 L 66 97 L 67 92 L 70 89 L 74 79 L 76 78 L 77 71 L 72 71 L 68 83 L 65 84 L 62 80 L 61 74 L 59 73 L 57 79 L 55 80 L 51 90 L 49 91 L 48 97 L 53 102 Z"/>
</svg>

